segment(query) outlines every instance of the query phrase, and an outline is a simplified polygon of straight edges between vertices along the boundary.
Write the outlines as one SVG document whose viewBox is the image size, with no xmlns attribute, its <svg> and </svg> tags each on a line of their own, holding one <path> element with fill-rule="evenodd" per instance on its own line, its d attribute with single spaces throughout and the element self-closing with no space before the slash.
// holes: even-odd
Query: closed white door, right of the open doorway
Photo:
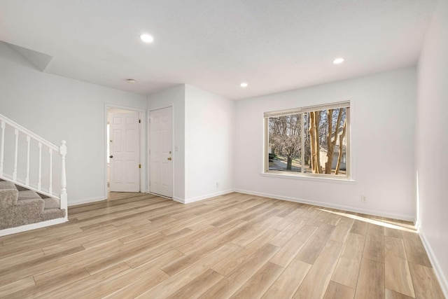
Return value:
<svg viewBox="0 0 448 299">
<path fill-rule="evenodd" d="M 172 107 L 150 112 L 150 190 L 173 197 Z"/>
</svg>

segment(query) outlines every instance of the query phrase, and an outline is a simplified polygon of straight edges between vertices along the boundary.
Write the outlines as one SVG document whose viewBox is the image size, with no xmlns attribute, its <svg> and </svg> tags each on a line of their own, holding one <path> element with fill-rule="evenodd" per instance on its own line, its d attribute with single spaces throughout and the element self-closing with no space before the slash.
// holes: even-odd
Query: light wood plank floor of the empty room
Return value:
<svg viewBox="0 0 448 299">
<path fill-rule="evenodd" d="M 444 298 L 412 223 L 231 193 L 142 193 L 0 237 L 1 298 Z"/>
</svg>

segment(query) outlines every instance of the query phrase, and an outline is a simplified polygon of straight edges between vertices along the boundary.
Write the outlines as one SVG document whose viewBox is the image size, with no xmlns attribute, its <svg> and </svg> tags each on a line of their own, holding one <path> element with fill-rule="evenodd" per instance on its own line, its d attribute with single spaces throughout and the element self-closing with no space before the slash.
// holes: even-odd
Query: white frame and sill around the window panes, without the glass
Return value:
<svg viewBox="0 0 448 299">
<path fill-rule="evenodd" d="M 311 111 L 322 111 L 328 109 L 337 109 L 337 108 L 346 108 L 346 174 L 314 174 L 314 173 L 305 173 L 305 172 L 284 172 L 279 170 L 269 170 L 269 118 L 278 117 L 278 116 L 287 116 L 291 114 L 301 113 L 301 126 L 302 132 L 304 132 L 304 117 L 303 114 Z M 336 181 L 352 181 L 352 172 L 351 172 L 351 102 L 333 102 L 328 104 L 314 105 L 314 106 L 304 106 L 298 107 L 294 109 L 283 109 L 277 111 L 268 111 L 264 113 L 264 148 L 263 148 L 263 175 L 266 176 L 276 176 L 276 177 L 286 177 L 290 179 L 330 179 Z M 307 133 L 304 133 L 307 134 Z M 301 148 L 304 148 L 304 134 L 302 134 L 301 138 Z M 303 167 L 302 167 L 303 169 Z"/>
</svg>

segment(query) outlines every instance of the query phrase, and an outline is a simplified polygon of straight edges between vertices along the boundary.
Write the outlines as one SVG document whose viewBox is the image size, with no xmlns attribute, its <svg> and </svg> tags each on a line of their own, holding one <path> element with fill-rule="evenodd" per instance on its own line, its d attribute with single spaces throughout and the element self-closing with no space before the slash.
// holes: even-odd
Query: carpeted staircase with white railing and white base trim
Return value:
<svg viewBox="0 0 448 299">
<path fill-rule="evenodd" d="M 65 156 L 0 114 L 0 236 L 68 221 Z"/>
</svg>

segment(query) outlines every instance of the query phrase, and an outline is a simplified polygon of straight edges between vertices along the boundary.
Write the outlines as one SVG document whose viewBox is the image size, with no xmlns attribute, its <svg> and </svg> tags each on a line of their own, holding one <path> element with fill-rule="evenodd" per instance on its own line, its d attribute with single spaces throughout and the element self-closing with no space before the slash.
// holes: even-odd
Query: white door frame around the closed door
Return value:
<svg viewBox="0 0 448 299">
<path fill-rule="evenodd" d="M 151 163 L 150 163 L 151 157 L 150 157 L 149 151 L 146 151 L 146 153 L 147 153 L 146 160 L 148 161 L 147 166 L 146 166 L 146 173 L 147 173 L 147 180 L 146 180 L 146 182 L 147 182 L 147 184 L 146 184 L 147 189 L 146 190 L 147 191 L 146 192 L 158 195 L 160 197 L 165 197 L 165 198 L 167 198 L 169 200 L 172 200 L 174 198 L 174 190 L 175 190 L 174 189 L 174 183 L 175 183 L 174 182 L 174 169 L 176 169 L 176 167 L 174 166 L 175 163 L 176 163 L 176 151 L 174 150 L 174 147 L 175 147 L 175 144 L 174 144 L 174 103 L 167 104 L 167 105 L 164 105 L 164 106 L 155 106 L 155 107 L 151 107 L 151 108 L 148 109 L 148 113 L 147 113 L 147 116 L 146 116 L 146 118 L 147 118 L 147 122 L 146 122 L 147 123 L 147 125 L 146 125 L 146 137 L 147 137 L 147 141 L 148 142 L 147 142 L 146 146 L 147 146 L 148 149 L 151 146 L 151 136 L 150 136 L 150 134 L 151 134 L 151 121 L 150 121 L 151 111 L 165 109 L 165 108 L 170 108 L 170 107 L 171 107 L 171 114 L 172 114 L 172 118 L 171 118 L 171 120 L 172 120 L 171 135 L 172 135 L 172 146 L 173 146 L 173 148 L 172 148 L 172 158 L 173 158 L 173 160 L 172 160 L 172 197 L 165 197 L 165 196 L 160 195 L 160 194 L 151 193 L 151 184 L 150 184 L 150 181 L 151 181 Z"/>
</svg>

